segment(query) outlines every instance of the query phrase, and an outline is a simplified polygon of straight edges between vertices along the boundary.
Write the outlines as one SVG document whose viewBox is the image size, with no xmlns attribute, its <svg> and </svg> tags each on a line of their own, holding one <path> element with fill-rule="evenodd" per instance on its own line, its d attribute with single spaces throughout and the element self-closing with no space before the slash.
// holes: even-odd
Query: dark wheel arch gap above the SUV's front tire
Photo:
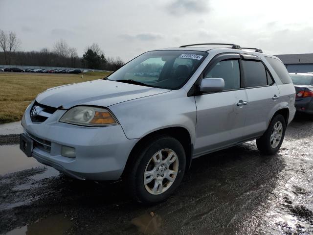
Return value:
<svg viewBox="0 0 313 235">
<path fill-rule="evenodd" d="M 129 154 L 129 157 L 127 159 L 127 162 L 125 164 L 124 171 L 122 173 L 122 177 L 125 175 L 127 170 L 132 166 L 132 164 L 135 161 L 136 152 L 138 152 L 142 145 L 149 142 L 151 139 L 157 137 L 167 135 L 171 136 L 175 139 L 177 139 L 182 147 L 185 150 L 186 153 L 186 171 L 189 169 L 192 161 L 192 153 L 193 153 L 193 143 L 191 142 L 191 135 L 189 131 L 184 127 L 168 127 L 160 130 L 156 130 L 154 132 L 151 132 L 141 138 L 136 144 L 134 145 L 131 153 Z"/>
</svg>

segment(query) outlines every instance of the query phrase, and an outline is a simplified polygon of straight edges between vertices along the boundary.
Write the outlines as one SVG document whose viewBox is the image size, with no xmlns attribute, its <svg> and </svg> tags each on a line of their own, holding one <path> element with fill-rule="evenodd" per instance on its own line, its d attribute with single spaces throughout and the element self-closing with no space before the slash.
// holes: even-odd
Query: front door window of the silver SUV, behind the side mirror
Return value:
<svg viewBox="0 0 313 235">
<path fill-rule="evenodd" d="M 217 63 L 203 78 L 223 78 L 224 90 L 240 88 L 239 60 L 224 60 Z"/>
</svg>

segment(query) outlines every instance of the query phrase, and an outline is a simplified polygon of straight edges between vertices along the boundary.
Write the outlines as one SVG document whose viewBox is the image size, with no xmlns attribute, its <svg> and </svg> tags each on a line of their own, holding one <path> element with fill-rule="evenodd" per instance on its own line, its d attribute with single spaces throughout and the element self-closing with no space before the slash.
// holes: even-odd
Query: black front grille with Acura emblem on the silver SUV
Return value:
<svg viewBox="0 0 313 235">
<path fill-rule="evenodd" d="M 32 122 L 44 122 L 56 110 L 57 108 L 46 106 L 35 101 L 33 107 L 30 109 L 30 113 L 29 113 L 30 119 Z"/>
</svg>

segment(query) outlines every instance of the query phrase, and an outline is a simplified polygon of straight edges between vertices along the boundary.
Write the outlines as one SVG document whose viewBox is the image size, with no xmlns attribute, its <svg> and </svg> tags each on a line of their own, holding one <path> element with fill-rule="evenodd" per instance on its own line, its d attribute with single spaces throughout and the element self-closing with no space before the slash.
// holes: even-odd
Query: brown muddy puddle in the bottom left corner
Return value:
<svg viewBox="0 0 313 235">
<path fill-rule="evenodd" d="M 14 229 L 5 235 L 62 235 L 73 225 L 64 214 L 48 216 L 35 223 Z"/>
</svg>

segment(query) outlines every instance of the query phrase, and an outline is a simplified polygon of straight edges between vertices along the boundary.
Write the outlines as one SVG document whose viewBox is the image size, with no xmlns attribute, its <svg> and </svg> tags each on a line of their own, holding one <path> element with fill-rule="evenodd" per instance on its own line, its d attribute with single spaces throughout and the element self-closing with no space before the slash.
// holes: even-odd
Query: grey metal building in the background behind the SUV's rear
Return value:
<svg viewBox="0 0 313 235">
<path fill-rule="evenodd" d="M 275 56 L 282 60 L 289 72 L 313 72 L 313 53 Z"/>
</svg>

